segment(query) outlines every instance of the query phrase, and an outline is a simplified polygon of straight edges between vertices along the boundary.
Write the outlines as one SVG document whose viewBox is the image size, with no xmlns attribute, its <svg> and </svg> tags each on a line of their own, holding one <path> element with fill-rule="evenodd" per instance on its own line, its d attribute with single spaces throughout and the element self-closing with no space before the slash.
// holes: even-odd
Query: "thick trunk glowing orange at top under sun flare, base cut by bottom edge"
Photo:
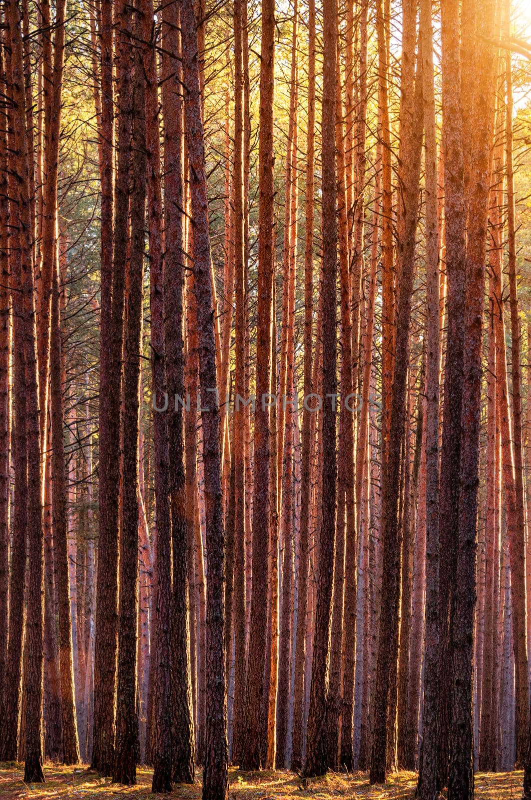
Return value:
<svg viewBox="0 0 531 800">
<path fill-rule="evenodd" d="M 461 410 L 457 590 L 452 618 L 452 735 L 449 758 L 449 800 L 473 798 L 473 622 L 475 605 L 477 486 L 481 415 L 481 342 L 485 290 L 486 222 L 489 198 L 489 153 L 492 146 L 493 3 L 477 7 L 477 30 L 464 38 L 473 54 L 473 191 L 469 197 L 466 259 L 465 356 Z M 468 76 L 472 78 L 472 74 Z M 481 130 L 478 127 L 481 120 Z M 445 159 L 446 161 L 446 159 Z M 447 222 L 447 226 L 448 226 Z M 448 228 L 447 228 L 448 230 Z"/>
</svg>

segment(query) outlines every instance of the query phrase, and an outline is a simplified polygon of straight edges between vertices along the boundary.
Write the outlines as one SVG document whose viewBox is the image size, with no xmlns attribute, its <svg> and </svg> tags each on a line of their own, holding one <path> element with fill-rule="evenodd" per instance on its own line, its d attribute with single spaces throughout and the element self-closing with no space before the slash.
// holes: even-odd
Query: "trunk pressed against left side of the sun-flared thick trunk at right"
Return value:
<svg viewBox="0 0 531 800">
<path fill-rule="evenodd" d="M 440 782 L 448 780 L 453 642 L 450 618 L 457 570 L 461 454 L 461 399 L 465 321 L 465 184 L 461 130 L 461 54 L 459 5 L 441 6 L 442 148 L 445 172 L 445 247 L 448 330 L 446 334 L 444 409 L 439 490 L 440 575 L 439 738 Z"/>
</svg>

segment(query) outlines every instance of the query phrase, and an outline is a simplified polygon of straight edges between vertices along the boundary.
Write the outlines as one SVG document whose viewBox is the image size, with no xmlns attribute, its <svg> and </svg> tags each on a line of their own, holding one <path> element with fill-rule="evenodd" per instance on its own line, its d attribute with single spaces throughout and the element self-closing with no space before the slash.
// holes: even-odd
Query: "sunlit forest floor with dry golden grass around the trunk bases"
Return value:
<svg viewBox="0 0 531 800">
<path fill-rule="evenodd" d="M 154 800 L 168 795 L 151 794 L 152 770 L 137 770 L 136 786 L 118 786 L 110 779 L 98 778 L 94 772 L 83 767 L 47 764 L 46 783 L 26 785 L 22 778 L 22 764 L 0 763 L 0 800 L 14 798 L 60 798 L 60 800 Z M 172 798 L 201 800 L 201 775 L 195 786 L 175 786 Z M 522 773 L 477 774 L 476 800 L 519 800 L 521 798 Z M 313 800 L 335 800 L 335 798 L 360 798 L 360 800 L 409 800 L 414 797 L 416 777 L 413 772 L 393 775 L 385 786 L 369 786 L 366 773 L 345 775 L 329 774 L 326 778 L 301 785 L 301 778 L 291 772 L 241 773 L 230 770 L 231 800 L 291 800 L 291 798 L 313 798 Z"/>
</svg>

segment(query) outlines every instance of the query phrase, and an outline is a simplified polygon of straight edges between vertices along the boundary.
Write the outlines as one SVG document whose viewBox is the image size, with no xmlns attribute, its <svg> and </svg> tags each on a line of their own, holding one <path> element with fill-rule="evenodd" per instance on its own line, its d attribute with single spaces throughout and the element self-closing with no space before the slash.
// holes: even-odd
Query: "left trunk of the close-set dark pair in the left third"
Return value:
<svg viewBox="0 0 531 800">
<path fill-rule="evenodd" d="M 129 222 L 129 190 L 131 134 L 133 115 L 131 6 L 120 2 L 116 10 L 119 21 L 117 42 L 118 79 L 118 159 L 114 184 L 114 232 L 110 241 L 112 267 L 107 254 L 102 257 L 102 321 L 101 321 L 101 366 L 100 366 L 100 419 L 99 419 L 99 536 L 98 536 L 98 580 L 96 583 L 96 635 L 94 642 L 94 748 L 92 764 L 100 774 L 110 775 L 114 768 L 114 734 L 116 710 L 116 681 L 118 664 L 118 530 L 120 492 L 120 421 L 122 397 L 122 358 L 124 336 L 124 308 L 126 296 L 126 243 Z M 102 34 L 109 22 L 106 0 L 102 0 Z M 112 142 L 112 106 L 107 108 L 108 98 L 103 81 L 109 79 L 112 70 L 107 59 L 110 42 L 102 43 L 102 140 L 110 134 Z M 112 79 L 112 72 L 110 78 Z M 106 84 L 107 85 L 107 84 Z M 110 95 L 112 102 L 112 94 Z M 105 151 L 105 189 L 112 183 L 112 152 Z M 110 164 L 107 163 L 110 159 Z M 106 203 L 111 202 L 106 198 Z M 111 205 L 112 209 L 112 205 Z M 106 214 L 110 213 L 105 209 Z M 109 221 L 106 219 L 106 226 Z M 107 228 L 106 228 L 107 230 Z M 103 241 L 103 232 L 102 232 Z M 109 242 L 105 242 L 110 246 Z M 105 269 L 104 269 L 105 268 Z M 109 275 L 108 270 L 111 270 Z M 109 296 L 107 296 L 109 293 Z"/>
</svg>

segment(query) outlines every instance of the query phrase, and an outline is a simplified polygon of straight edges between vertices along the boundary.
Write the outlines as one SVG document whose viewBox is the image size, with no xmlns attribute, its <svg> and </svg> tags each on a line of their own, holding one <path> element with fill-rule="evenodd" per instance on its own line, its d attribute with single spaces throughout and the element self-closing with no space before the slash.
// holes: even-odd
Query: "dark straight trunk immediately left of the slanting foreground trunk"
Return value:
<svg viewBox="0 0 531 800">
<path fill-rule="evenodd" d="M 164 163 L 165 163 L 165 298 L 166 298 L 166 370 L 170 394 L 168 437 L 170 455 L 170 490 L 172 510 L 172 539 L 174 548 L 174 625 L 173 625 L 173 682 L 174 705 L 174 780 L 193 783 L 194 766 L 194 716 L 192 708 L 190 675 L 190 588 L 186 572 L 187 550 L 190 546 L 192 562 L 194 539 L 188 538 L 186 523 L 186 476 L 184 465 L 183 403 L 174 401 L 175 395 L 184 398 L 184 340 L 183 340 L 183 290 L 184 290 L 184 205 L 182 169 L 182 66 L 181 46 L 178 38 L 178 4 L 170 3 L 163 15 L 162 105 L 164 112 Z M 174 58 L 171 58 L 171 56 Z M 173 398 L 173 400 L 171 399 Z M 187 414 L 196 414 L 188 410 Z M 188 545 L 187 545 L 188 542 Z"/>
</svg>

